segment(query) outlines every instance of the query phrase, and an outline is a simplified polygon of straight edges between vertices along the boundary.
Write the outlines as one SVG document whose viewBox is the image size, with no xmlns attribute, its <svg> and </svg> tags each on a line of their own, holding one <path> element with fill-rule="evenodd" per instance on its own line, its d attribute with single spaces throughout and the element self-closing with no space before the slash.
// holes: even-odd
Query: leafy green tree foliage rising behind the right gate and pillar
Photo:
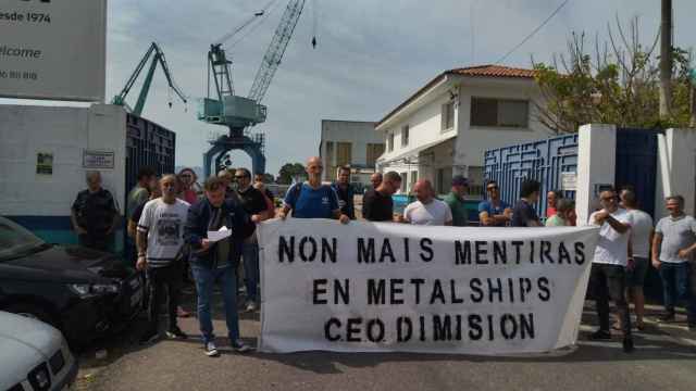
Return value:
<svg viewBox="0 0 696 391">
<path fill-rule="evenodd" d="M 535 63 L 542 101 L 536 116 L 557 134 L 575 133 L 591 123 L 619 127 L 687 127 L 689 123 L 689 61 L 686 51 L 673 48 L 672 112 L 659 115 L 659 33 L 650 46 L 639 42 L 637 17 L 629 34 L 617 18 L 617 31 L 607 25 L 609 40 L 588 54 L 585 34 L 573 33 L 568 53 L 554 55 L 550 64 Z"/>
</svg>

